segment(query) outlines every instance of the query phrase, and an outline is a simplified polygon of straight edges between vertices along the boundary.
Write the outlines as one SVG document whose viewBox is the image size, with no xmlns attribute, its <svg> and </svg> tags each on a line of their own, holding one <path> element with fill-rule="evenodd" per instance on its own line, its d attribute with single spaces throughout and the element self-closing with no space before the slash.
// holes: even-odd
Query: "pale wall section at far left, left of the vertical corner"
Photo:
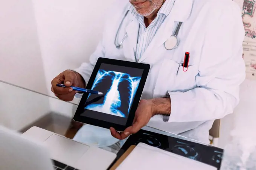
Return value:
<svg viewBox="0 0 256 170">
<path fill-rule="evenodd" d="M 0 4 L 0 80 L 47 93 L 31 0 Z"/>
</svg>

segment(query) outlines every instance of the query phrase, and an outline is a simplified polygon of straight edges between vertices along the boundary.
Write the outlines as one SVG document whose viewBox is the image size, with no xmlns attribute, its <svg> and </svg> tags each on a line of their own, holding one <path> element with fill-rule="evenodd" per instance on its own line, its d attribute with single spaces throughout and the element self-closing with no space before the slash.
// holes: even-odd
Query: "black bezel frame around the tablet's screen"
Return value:
<svg viewBox="0 0 256 170">
<path fill-rule="evenodd" d="M 86 124 L 91 124 L 91 125 L 94 125 L 94 126 L 104 127 L 104 128 L 107 128 L 107 129 L 110 129 L 110 127 L 114 127 L 116 129 L 116 131 L 124 131 L 126 129 L 126 127 L 131 126 L 132 123 L 133 123 L 133 119 L 134 119 L 134 116 L 135 116 L 135 111 L 136 111 L 136 109 L 139 105 L 139 102 L 140 102 L 140 97 L 142 95 L 142 91 L 143 91 L 143 88 L 145 86 L 146 79 L 148 77 L 150 65 L 149 64 L 144 64 L 144 63 L 122 61 L 122 60 L 117 60 L 117 59 L 99 58 L 98 61 L 95 64 L 95 67 L 93 69 L 91 77 L 90 77 L 90 79 L 87 83 L 87 86 L 86 86 L 87 89 L 91 89 L 91 87 L 93 85 L 93 82 L 94 82 L 94 79 L 95 79 L 95 77 L 98 73 L 98 70 L 99 70 L 102 63 L 112 64 L 112 65 L 119 65 L 119 66 L 130 67 L 130 68 L 143 69 L 143 73 L 142 73 L 142 76 L 141 76 L 141 79 L 140 79 L 140 83 L 139 83 L 139 86 L 137 88 L 137 92 L 135 94 L 135 97 L 134 97 L 134 100 L 133 100 L 133 105 L 131 106 L 131 110 L 130 110 L 130 113 L 128 115 L 126 124 L 125 125 L 120 125 L 120 124 L 116 124 L 116 123 L 111 123 L 111 122 L 102 121 L 102 120 L 98 120 L 98 119 L 94 119 L 94 118 L 90 118 L 90 117 L 81 116 L 81 114 L 84 113 L 84 106 L 85 106 L 85 102 L 86 102 L 87 97 L 88 97 L 88 93 L 83 94 L 82 99 L 79 102 L 78 108 L 76 109 L 73 120 L 78 121 L 78 122 L 82 122 L 82 123 L 86 123 Z"/>
</svg>

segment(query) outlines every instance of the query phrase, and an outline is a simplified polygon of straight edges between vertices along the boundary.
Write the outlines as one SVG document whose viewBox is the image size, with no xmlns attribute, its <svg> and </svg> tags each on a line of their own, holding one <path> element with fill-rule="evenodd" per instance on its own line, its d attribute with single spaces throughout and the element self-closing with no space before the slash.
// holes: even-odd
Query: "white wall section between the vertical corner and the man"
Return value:
<svg viewBox="0 0 256 170">
<path fill-rule="evenodd" d="M 87 62 L 113 0 L 33 0 L 47 89 L 60 72 Z M 100 5 L 99 5 L 100 4 Z"/>
</svg>

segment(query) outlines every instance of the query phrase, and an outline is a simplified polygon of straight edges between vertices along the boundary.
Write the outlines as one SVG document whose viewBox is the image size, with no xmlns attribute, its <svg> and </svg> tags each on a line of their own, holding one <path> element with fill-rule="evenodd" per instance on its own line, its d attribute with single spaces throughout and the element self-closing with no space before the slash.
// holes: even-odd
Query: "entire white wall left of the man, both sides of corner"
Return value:
<svg viewBox="0 0 256 170">
<path fill-rule="evenodd" d="M 88 61 L 112 2 L 0 0 L 0 80 L 53 96 L 51 80 Z"/>
</svg>

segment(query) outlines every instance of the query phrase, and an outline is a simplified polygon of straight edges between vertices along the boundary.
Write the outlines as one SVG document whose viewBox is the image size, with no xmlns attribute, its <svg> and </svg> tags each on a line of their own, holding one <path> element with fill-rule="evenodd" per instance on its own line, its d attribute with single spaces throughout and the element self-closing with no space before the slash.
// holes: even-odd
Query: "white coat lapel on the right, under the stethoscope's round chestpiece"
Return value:
<svg viewBox="0 0 256 170">
<path fill-rule="evenodd" d="M 152 59 L 157 56 L 157 48 L 165 43 L 165 41 L 171 37 L 176 27 L 175 21 L 186 21 L 192 11 L 193 0 L 176 0 L 174 6 L 166 18 L 165 22 L 160 26 L 159 30 L 155 34 L 145 53 L 140 58 L 139 62 L 144 61 L 151 56 Z M 182 26 L 181 26 L 182 28 Z"/>
</svg>

